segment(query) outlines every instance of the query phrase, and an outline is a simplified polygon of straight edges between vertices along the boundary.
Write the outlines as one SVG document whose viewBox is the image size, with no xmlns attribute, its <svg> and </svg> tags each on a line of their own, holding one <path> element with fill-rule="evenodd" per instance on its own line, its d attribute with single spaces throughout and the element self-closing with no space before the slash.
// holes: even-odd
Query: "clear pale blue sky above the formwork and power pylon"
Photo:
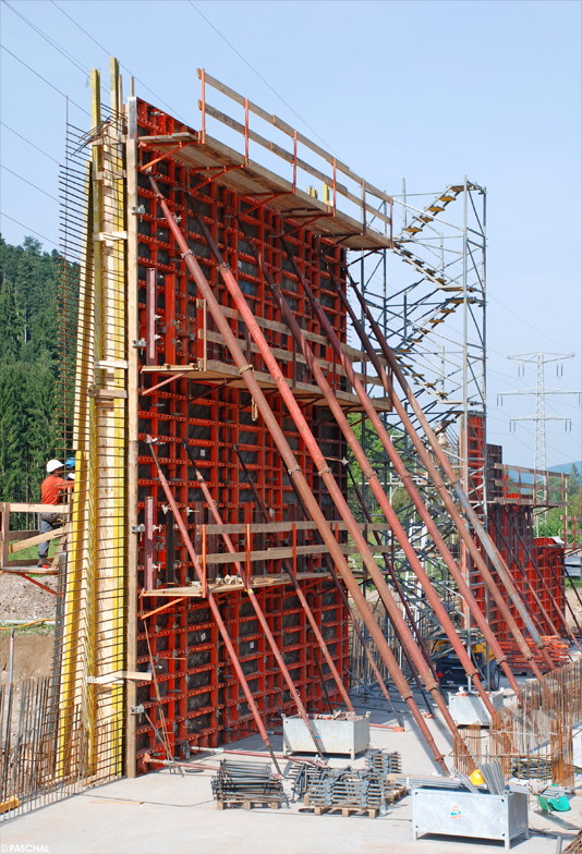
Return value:
<svg viewBox="0 0 582 854">
<path fill-rule="evenodd" d="M 0 51 L 5 240 L 34 230 L 47 248 L 58 241 L 63 94 L 88 111 L 88 71 L 107 75 L 109 53 L 126 87 L 131 72 L 138 95 L 195 127 L 204 66 L 388 193 L 402 178 L 413 193 L 468 174 L 488 191 L 489 441 L 506 461 L 532 464 L 533 426 L 510 435 L 508 424 L 534 400 L 496 402 L 535 374 L 518 378 L 507 356 L 574 353 L 546 382 L 582 390 L 580 2 L 9 1 L 0 38 L 17 59 Z M 78 107 L 70 118 L 86 127 Z M 549 399 L 547 411 L 572 418 L 569 434 L 548 424 L 548 465 L 581 460 L 578 398 Z"/>
</svg>

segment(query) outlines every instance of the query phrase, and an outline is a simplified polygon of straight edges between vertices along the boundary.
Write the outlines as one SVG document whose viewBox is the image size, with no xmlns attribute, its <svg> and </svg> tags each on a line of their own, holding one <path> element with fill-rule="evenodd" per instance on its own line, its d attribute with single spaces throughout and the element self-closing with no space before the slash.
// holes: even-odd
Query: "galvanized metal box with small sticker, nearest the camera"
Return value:
<svg viewBox="0 0 582 854">
<path fill-rule="evenodd" d="M 528 795 L 473 794 L 450 789 L 412 790 L 412 839 L 422 833 L 451 837 L 502 839 L 506 849 L 511 840 L 524 834 L 529 839 Z"/>
</svg>

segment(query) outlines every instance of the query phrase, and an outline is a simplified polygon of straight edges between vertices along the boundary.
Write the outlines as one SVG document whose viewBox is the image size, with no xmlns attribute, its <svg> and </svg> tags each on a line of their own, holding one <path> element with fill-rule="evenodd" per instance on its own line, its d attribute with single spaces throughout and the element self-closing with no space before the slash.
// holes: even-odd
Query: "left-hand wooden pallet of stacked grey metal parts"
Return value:
<svg viewBox="0 0 582 854">
<path fill-rule="evenodd" d="M 268 804 L 278 808 L 287 800 L 281 780 L 274 773 L 270 762 L 247 762 L 222 759 L 216 777 L 211 780 L 217 808 L 227 804 Z"/>
</svg>

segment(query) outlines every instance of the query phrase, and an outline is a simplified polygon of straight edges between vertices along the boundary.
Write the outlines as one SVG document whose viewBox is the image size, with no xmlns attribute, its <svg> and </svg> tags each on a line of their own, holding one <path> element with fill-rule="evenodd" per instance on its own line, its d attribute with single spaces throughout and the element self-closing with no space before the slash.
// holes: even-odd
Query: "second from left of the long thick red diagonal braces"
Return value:
<svg viewBox="0 0 582 854">
<path fill-rule="evenodd" d="M 426 663 L 425 663 L 425 661 L 424 661 L 424 659 L 422 657 L 422 652 L 419 649 L 419 647 L 416 645 L 416 642 L 414 640 L 414 638 L 412 636 L 412 633 L 411 633 L 407 622 L 404 621 L 404 619 L 403 619 L 403 617 L 402 617 L 402 614 L 400 612 L 400 609 L 398 608 L 398 605 L 397 605 L 396 600 L 393 599 L 392 594 L 391 594 L 388 585 L 386 584 L 386 582 L 384 580 L 384 576 L 383 576 L 383 574 L 381 574 L 381 572 L 379 570 L 379 566 L 377 565 L 377 563 L 376 563 L 376 561 L 374 559 L 374 556 L 372 554 L 369 546 L 367 545 L 365 538 L 363 537 L 362 533 L 360 532 L 357 523 L 355 522 L 355 520 L 354 520 L 354 517 L 352 515 L 352 512 L 351 512 L 351 510 L 350 510 L 350 508 L 348 505 L 348 502 L 345 501 L 345 498 L 344 498 L 341 489 L 339 488 L 339 486 L 338 486 L 338 484 L 336 481 L 336 478 L 331 474 L 331 469 L 327 465 L 326 459 L 323 455 L 323 453 L 322 453 L 322 451 L 319 449 L 319 446 L 317 444 L 317 441 L 316 441 L 313 432 L 310 429 L 310 426 L 308 426 L 307 422 L 305 420 L 305 417 L 303 415 L 303 412 L 301 411 L 301 407 L 299 406 L 295 398 L 293 396 L 293 393 L 292 393 L 291 389 L 287 385 L 287 381 L 286 381 L 286 379 L 283 377 L 283 374 L 282 374 L 282 371 L 281 371 L 281 369 L 279 367 L 279 364 L 278 364 L 277 359 L 275 358 L 275 356 L 272 355 L 272 352 L 271 352 L 267 341 L 265 340 L 265 337 L 264 337 L 264 334 L 263 334 L 258 324 L 256 322 L 256 319 L 255 319 L 255 317 L 253 315 L 253 312 L 251 310 L 246 300 L 244 298 L 244 295 L 243 295 L 242 291 L 239 288 L 237 279 L 234 278 L 234 276 L 233 276 L 232 271 L 230 270 L 230 268 L 228 267 L 228 265 L 226 265 L 225 261 L 222 260 L 222 256 L 220 255 L 220 252 L 219 252 L 219 249 L 218 249 L 218 247 L 217 247 L 217 245 L 216 245 L 216 243 L 215 243 L 215 241 L 214 241 L 214 239 L 213 239 L 213 236 L 211 236 L 211 234 L 210 234 L 210 232 L 208 230 L 208 227 L 204 222 L 203 218 L 201 216 L 196 216 L 196 220 L 197 220 L 197 223 L 198 223 L 198 225 L 201 228 L 201 232 L 202 232 L 204 239 L 206 240 L 206 242 L 207 242 L 207 244 L 208 244 L 208 246 L 210 248 L 211 254 L 214 255 L 214 257 L 216 258 L 216 260 L 217 260 L 217 263 L 219 265 L 218 269 L 219 269 L 220 276 L 222 278 L 222 281 L 227 285 L 227 289 L 230 292 L 230 294 L 231 294 L 231 296 L 233 298 L 233 302 L 234 302 L 237 308 L 239 309 L 239 312 L 241 314 L 243 322 L 248 328 L 248 331 L 250 331 L 251 335 L 253 337 L 253 339 L 255 341 L 255 344 L 258 347 L 258 351 L 259 351 L 259 353 L 260 353 L 260 355 L 262 355 L 262 357 L 263 357 L 263 359 L 265 362 L 265 365 L 266 365 L 269 374 L 271 375 L 271 377 L 276 381 L 278 390 L 279 390 L 279 392 L 280 392 L 280 394 L 281 394 L 281 396 L 282 396 L 282 399 L 283 399 L 283 401 L 284 401 L 284 403 L 287 405 L 287 408 L 289 411 L 290 416 L 292 417 L 292 419 L 294 420 L 299 431 L 303 436 L 303 441 L 305 442 L 305 447 L 306 447 L 306 449 L 307 449 L 312 460 L 315 463 L 316 471 L 317 471 L 319 477 L 324 481 L 324 484 L 325 484 L 325 486 L 326 486 L 326 488 L 327 488 L 327 490 L 328 490 L 328 492 L 329 492 L 334 503 L 336 504 L 336 507 L 337 507 L 341 517 L 345 522 L 345 525 L 347 525 L 348 530 L 349 530 L 349 533 L 350 533 L 350 535 L 351 535 L 351 537 L 352 537 L 352 539 L 354 541 L 354 545 L 357 548 L 357 551 L 360 552 L 360 554 L 362 556 L 362 558 L 364 560 L 364 563 L 366 564 L 366 568 L 367 568 L 372 578 L 374 580 L 374 583 L 376 584 L 378 593 L 380 594 L 381 599 L 383 599 L 384 603 L 386 605 L 386 607 L 388 609 L 388 612 L 391 615 L 392 621 L 395 622 L 396 625 L 398 625 L 400 635 L 401 635 L 402 639 L 404 640 L 405 645 L 409 647 L 410 652 L 411 652 L 411 655 L 412 655 L 412 657 L 414 659 L 414 662 L 416 664 L 416 668 L 417 668 L 419 672 L 421 673 L 421 675 L 422 675 L 422 678 L 423 678 L 423 680 L 424 680 L 424 682 L 426 684 L 427 690 L 432 693 L 433 698 L 434 698 L 435 703 L 437 704 L 437 706 L 438 706 L 438 708 L 439 708 L 439 710 L 440 710 L 440 712 L 441 712 L 441 715 L 442 715 L 442 717 L 445 719 L 445 722 L 447 723 L 447 725 L 450 729 L 451 733 L 456 734 L 457 733 L 457 724 L 452 720 L 452 718 L 450 716 L 450 712 L 449 712 L 449 709 L 447 707 L 447 704 L 445 703 L 442 696 L 439 693 L 438 684 L 434 681 L 431 671 L 426 667 Z M 229 327 L 229 331 L 230 331 L 230 327 Z M 232 335 L 232 332 L 231 332 L 231 335 Z M 241 358 L 244 359 L 244 356 L 242 355 L 242 353 L 241 353 Z M 248 373 L 250 368 L 252 368 L 252 366 L 247 365 L 245 363 L 244 365 L 241 366 L 241 369 L 240 369 L 241 374 Z M 246 380 L 246 376 L 245 376 L 245 380 Z M 262 396 L 264 396 L 263 393 L 262 393 Z M 257 403 L 256 398 L 255 398 L 255 403 Z M 266 401 L 265 401 L 265 403 L 266 403 Z M 336 404 L 335 398 L 334 398 L 334 403 Z M 257 405 L 258 405 L 258 403 L 257 403 Z M 266 403 L 266 406 L 268 407 L 267 403 Z M 272 416 L 270 407 L 268 407 L 268 411 L 269 411 L 270 416 Z M 343 413 L 342 413 L 342 415 L 343 415 Z M 339 424 L 339 422 L 338 422 L 338 424 Z M 277 429 L 279 429 L 278 425 L 277 425 Z M 274 434 L 271 434 L 271 435 L 274 435 Z M 274 435 L 274 438 L 275 438 L 275 435 Z M 355 443 L 357 444 L 357 441 Z M 360 447 L 360 446 L 357 444 L 357 447 Z M 295 465 L 296 465 L 296 463 L 295 463 Z M 290 473 L 291 473 L 291 469 L 290 469 Z M 311 493 L 311 490 L 310 490 L 310 493 Z M 317 508 L 317 510 L 320 513 L 319 508 Z M 312 515 L 313 515 L 313 513 L 312 513 Z M 323 514 L 322 514 L 322 518 L 324 518 Z M 316 518 L 314 518 L 314 521 L 317 522 Z M 335 549 L 335 551 L 339 550 L 338 549 L 338 544 L 336 542 L 336 539 L 335 539 L 335 537 L 334 537 L 334 535 L 332 535 L 332 533 L 331 533 L 327 522 L 325 524 L 325 529 L 329 530 L 329 534 L 334 538 L 332 541 L 334 541 L 334 549 Z M 319 530 L 322 532 L 322 534 L 324 534 L 324 529 L 322 527 L 319 527 Z M 328 544 L 326 542 L 326 545 L 328 545 Z M 328 546 L 328 548 L 329 548 L 329 546 Z M 341 553 L 341 551 L 340 551 L 340 553 Z M 342 558 L 343 558 L 343 556 L 342 556 Z M 345 566 L 348 566 L 345 561 L 344 561 L 344 564 L 345 564 Z M 349 572 L 351 578 L 355 582 L 355 578 L 353 578 L 353 575 L 352 575 L 351 571 L 349 570 L 349 568 L 348 568 L 348 572 Z M 357 584 L 356 584 L 356 587 L 357 587 Z M 362 595 L 359 587 L 357 587 L 357 591 L 360 593 L 360 595 Z M 352 596 L 353 596 L 353 594 L 352 594 Z"/>
</svg>

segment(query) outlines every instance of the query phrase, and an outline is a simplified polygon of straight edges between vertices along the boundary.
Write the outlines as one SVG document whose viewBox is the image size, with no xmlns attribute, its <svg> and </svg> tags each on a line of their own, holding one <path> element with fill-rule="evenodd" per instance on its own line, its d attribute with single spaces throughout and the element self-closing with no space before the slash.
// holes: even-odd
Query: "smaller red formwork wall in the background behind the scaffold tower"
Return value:
<svg viewBox="0 0 582 854">
<path fill-rule="evenodd" d="M 463 438 L 461 430 L 461 441 Z M 513 483 L 510 479 L 507 467 L 502 465 L 501 447 L 485 444 L 483 418 L 476 415 L 469 418 L 468 450 L 470 498 L 483 507 L 484 472 L 486 471 L 489 535 L 511 573 L 530 614 L 533 615 L 539 634 L 548 638 L 553 660 L 556 664 L 561 664 L 568 660 L 568 644 L 561 639 L 567 637 L 567 632 L 560 617 L 560 613 L 563 615 L 566 607 L 563 595 L 565 547 L 560 540 L 554 537 L 534 536 L 534 510 L 542 510 L 546 507 L 547 490 L 546 495 L 539 498 L 538 490 L 532 486 L 531 474 L 530 479 L 524 483 Z M 486 466 L 484 464 L 485 455 Z M 502 585 L 494 568 L 492 568 L 492 572 L 501 588 Z M 517 644 L 507 622 L 499 613 L 493 599 L 487 596 L 485 585 L 472 564 L 470 573 L 475 598 L 483 612 L 487 614 L 487 620 L 501 646 L 506 649 L 508 658 L 516 667 L 523 666 L 525 669 L 525 662 L 522 661 L 521 655 L 518 652 Z M 524 632 L 523 619 L 509 597 L 507 605 L 520 631 Z M 528 637 L 526 633 L 525 636 Z M 528 643 L 530 640 L 531 638 L 528 638 Z M 532 646 L 531 643 L 530 645 Z M 545 667 L 542 658 L 537 663 Z"/>
</svg>

